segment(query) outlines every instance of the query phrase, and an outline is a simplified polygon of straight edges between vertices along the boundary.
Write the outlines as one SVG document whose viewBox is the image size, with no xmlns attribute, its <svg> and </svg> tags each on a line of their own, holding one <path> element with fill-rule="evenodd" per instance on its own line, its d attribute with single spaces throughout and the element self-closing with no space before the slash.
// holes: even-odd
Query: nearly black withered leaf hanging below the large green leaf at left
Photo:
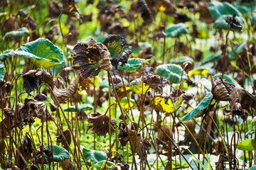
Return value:
<svg viewBox="0 0 256 170">
<path fill-rule="evenodd" d="M 36 70 L 31 69 L 26 74 L 23 74 L 23 88 L 26 89 L 28 95 L 34 89 L 38 91 L 38 87 L 41 84 L 41 78 L 36 76 L 36 72 Z"/>
</svg>

